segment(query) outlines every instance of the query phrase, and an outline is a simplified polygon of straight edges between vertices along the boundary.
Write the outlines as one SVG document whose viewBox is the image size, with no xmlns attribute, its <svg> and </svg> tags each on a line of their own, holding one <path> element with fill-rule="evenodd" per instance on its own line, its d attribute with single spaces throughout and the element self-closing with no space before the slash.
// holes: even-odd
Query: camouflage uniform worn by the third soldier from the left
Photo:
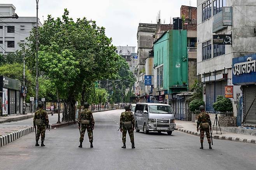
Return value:
<svg viewBox="0 0 256 170">
<path fill-rule="evenodd" d="M 126 122 L 126 121 L 131 121 L 132 122 L 132 127 L 131 128 L 125 128 L 125 127 L 122 127 L 122 122 Z M 123 130 L 123 135 L 122 135 L 122 140 L 123 140 L 123 143 L 126 142 L 126 133 L 128 131 L 128 134 L 130 136 L 130 140 L 132 143 L 134 143 L 134 135 L 133 135 L 133 128 L 135 127 L 135 121 L 134 121 L 134 116 L 132 114 L 132 112 L 130 111 L 125 111 L 123 113 L 121 113 L 121 116 L 120 116 L 120 128 Z"/>
</svg>

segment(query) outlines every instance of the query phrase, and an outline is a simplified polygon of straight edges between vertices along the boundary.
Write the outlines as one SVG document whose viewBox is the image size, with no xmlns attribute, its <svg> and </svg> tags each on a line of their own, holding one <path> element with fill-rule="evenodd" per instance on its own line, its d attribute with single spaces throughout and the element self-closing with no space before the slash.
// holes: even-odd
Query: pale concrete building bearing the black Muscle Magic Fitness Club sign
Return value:
<svg viewBox="0 0 256 170">
<path fill-rule="evenodd" d="M 255 6 L 255 0 L 197 0 L 197 75 L 204 83 L 206 111 L 214 112 L 212 104 L 224 95 L 224 86 L 233 85 L 232 59 L 256 53 Z M 216 44 L 214 35 L 227 39 Z M 240 95 L 240 86 L 235 85 L 230 98 L 234 116 Z"/>
</svg>

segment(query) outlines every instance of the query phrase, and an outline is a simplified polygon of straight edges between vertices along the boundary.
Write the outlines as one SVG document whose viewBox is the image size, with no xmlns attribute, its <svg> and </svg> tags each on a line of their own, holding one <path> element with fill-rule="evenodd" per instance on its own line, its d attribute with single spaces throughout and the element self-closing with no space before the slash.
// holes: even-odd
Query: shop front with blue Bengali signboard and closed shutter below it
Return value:
<svg viewBox="0 0 256 170">
<path fill-rule="evenodd" d="M 241 85 L 242 94 L 239 94 L 237 122 L 245 127 L 256 126 L 256 54 L 233 58 L 234 85 Z M 241 117 L 241 119 L 239 119 Z"/>
</svg>

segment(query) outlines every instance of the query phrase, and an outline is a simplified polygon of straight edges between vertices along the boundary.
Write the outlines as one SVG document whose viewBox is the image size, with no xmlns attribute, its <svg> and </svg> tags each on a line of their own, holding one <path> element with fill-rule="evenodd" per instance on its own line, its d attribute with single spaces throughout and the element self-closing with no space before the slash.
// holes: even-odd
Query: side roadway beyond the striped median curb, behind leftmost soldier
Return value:
<svg viewBox="0 0 256 170">
<path fill-rule="evenodd" d="M 49 124 L 55 124 L 58 121 L 58 114 L 48 114 Z M 62 114 L 60 115 L 60 119 L 62 118 Z M 61 120 L 60 120 L 61 121 Z M 33 126 L 33 118 L 21 120 L 21 121 L 11 121 L 7 123 L 0 123 L 0 128 L 5 127 L 21 127 L 21 126 Z"/>
</svg>

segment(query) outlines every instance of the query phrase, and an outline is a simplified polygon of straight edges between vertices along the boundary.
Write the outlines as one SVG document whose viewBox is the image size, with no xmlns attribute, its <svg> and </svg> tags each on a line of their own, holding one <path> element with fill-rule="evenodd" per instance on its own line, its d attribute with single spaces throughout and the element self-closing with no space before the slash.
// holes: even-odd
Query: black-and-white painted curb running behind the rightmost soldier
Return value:
<svg viewBox="0 0 256 170">
<path fill-rule="evenodd" d="M 200 133 L 198 133 L 198 132 L 184 130 L 184 129 L 181 129 L 181 128 L 178 128 L 177 130 L 179 130 L 181 132 L 184 132 L 184 133 L 187 133 L 187 134 L 191 134 L 191 135 L 195 135 L 195 136 L 200 136 Z M 204 137 L 205 137 L 205 135 L 204 135 Z M 256 144 L 256 140 L 243 139 L 243 138 L 239 138 L 239 137 L 228 137 L 228 136 L 212 135 L 212 138 L 219 139 L 219 140 L 226 140 L 226 141 L 234 141 L 234 142 L 244 142 L 244 143 Z"/>
</svg>

